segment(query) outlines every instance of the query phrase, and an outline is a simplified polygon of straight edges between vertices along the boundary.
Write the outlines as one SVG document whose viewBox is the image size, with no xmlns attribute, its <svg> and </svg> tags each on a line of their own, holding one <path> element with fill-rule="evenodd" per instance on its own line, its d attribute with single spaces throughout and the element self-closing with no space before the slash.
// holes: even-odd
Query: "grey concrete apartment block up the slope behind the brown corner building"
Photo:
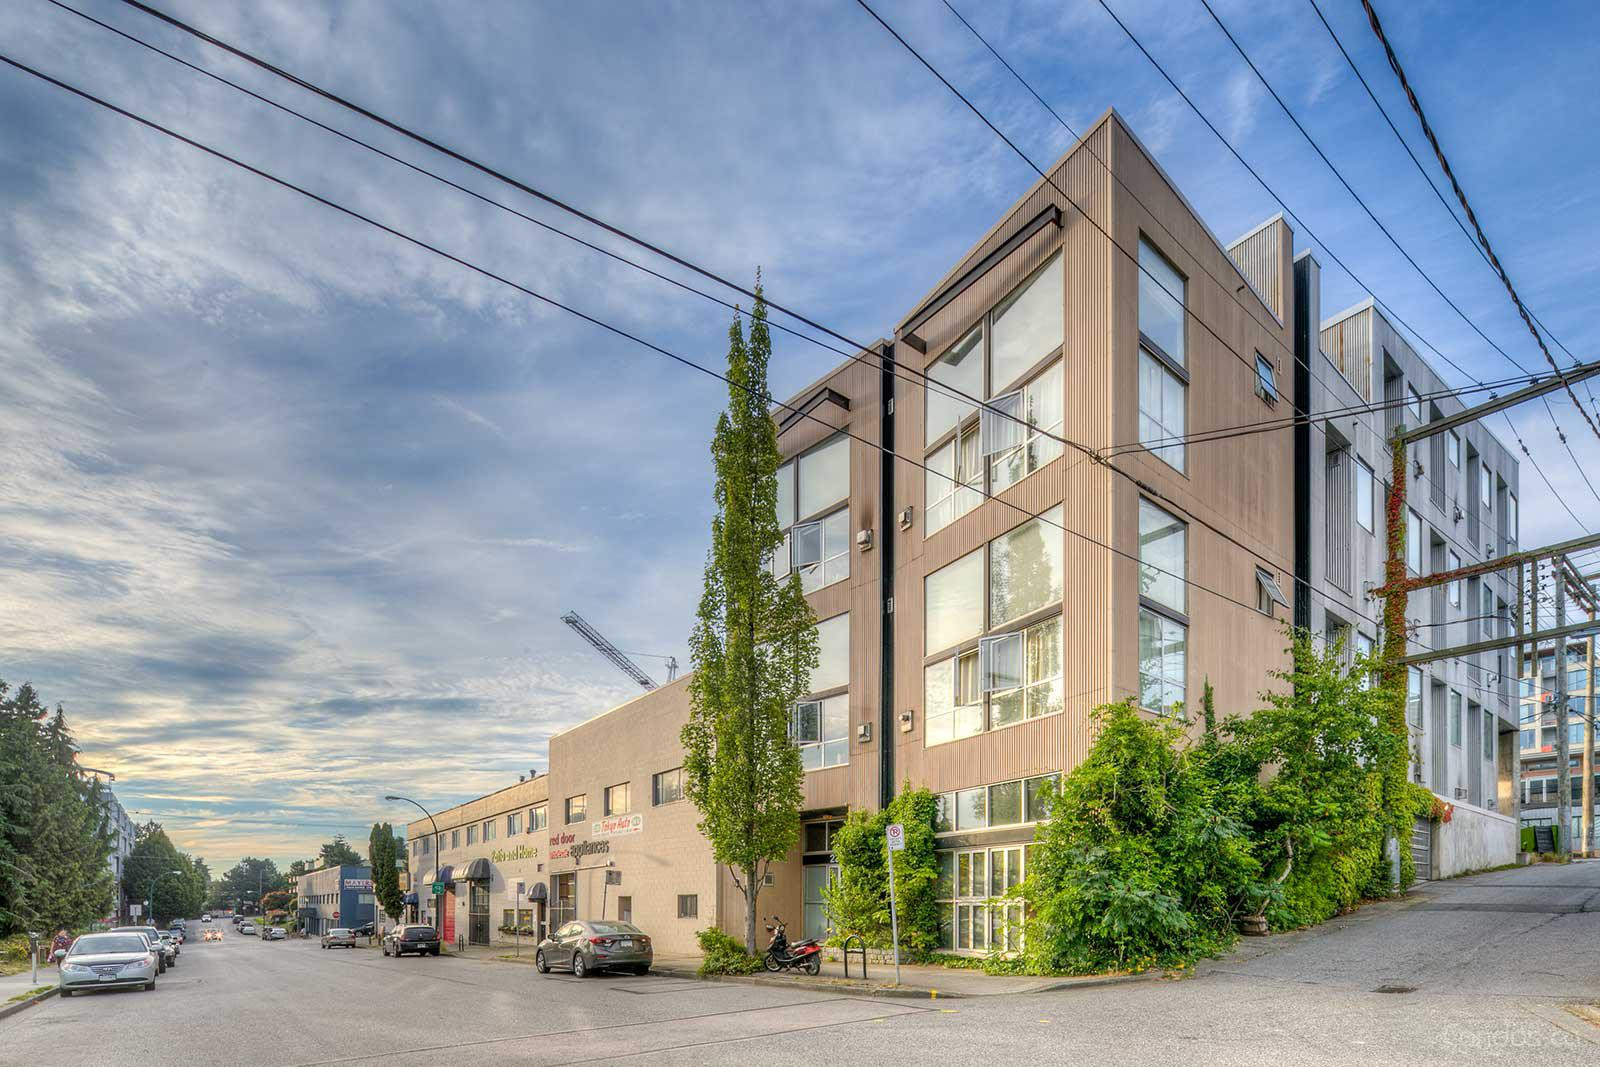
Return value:
<svg viewBox="0 0 1600 1067">
<path fill-rule="evenodd" d="M 1312 413 L 1384 403 L 1379 411 L 1315 421 L 1296 440 L 1296 622 L 1365 654 L 1378 641 L 1384 582 L 1389 440 L 1395 427 L 1456 414 L 1464 405 L 1371 299 L 1320 317 L 1320 267 L 1294 262 L 1307 373 L 1298 406 Z M 1518 464 L 1480 422 L 1410 446 L 1406 566 L 1437 573 L 1517 550 Z M 1517 571 L 1411 595 L 1413 649 L 1514 632 Z M 1512 862 L 1517 853 L 1515 651 L 1410 669 L 1406 718 L 1413 779 L 1456 805 L 1448 824 L 1419 822 L 1419 877 Z"/>
</svg>

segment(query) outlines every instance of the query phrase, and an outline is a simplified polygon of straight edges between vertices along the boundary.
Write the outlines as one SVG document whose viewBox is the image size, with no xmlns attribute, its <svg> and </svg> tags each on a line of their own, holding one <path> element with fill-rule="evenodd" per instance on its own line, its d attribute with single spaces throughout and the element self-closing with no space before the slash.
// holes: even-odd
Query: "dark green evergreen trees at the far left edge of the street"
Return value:
<svg viewBox="0 0 1600 1067">
<path fill-rule="evenodd" d="M 0 934 L 115 910 L 106 795 L 77 766 L 66 712 L 0 681 Z"/>
</svg>

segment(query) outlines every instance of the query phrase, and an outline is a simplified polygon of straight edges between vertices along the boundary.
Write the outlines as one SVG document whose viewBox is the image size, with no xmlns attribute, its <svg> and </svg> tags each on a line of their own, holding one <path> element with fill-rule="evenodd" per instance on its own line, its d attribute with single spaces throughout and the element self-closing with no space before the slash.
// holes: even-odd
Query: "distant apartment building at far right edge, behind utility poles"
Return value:
<svg viewBox="0 0 1600 1067">
<path fill-rule="evenodd" d="M 1586 734 L 1595 712 L 1595 648 L 1594 637 L 1566 641 L 1566 739 L 1568 768 L 1571 774 L 1571 843 L 1578 848 L 1584 830 L 1584 779 L 1590 789 L 1600 787 L 1594 766 L 1586 766 Z M 1536 669 L 1534 669 L 1536 667 Z M 1523 656 L 1520 680 L 1522 733 L 1522 825 L 1555 825 L 1560 782 L 1557 769 L 1557 734 L 1560 725 L 1555 715 L 1555 646 L 1539 649 L 1538 665 L 1533 653 Z"/>
</svg>

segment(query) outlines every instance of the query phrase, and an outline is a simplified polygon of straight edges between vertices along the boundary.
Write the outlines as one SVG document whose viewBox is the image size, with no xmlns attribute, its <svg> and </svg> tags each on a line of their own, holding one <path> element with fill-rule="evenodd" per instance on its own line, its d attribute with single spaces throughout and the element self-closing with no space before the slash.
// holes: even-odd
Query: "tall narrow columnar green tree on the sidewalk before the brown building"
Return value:
<svg viewBox="0 0 1600 1067">
<path fill-rule="evenodd" d="M 778 430 L 768 413 L 771 338 L 760 282 L 746 344 L 728 328 L 728 410 L 712 437 L 710 550 L 690 656 L 683 726 L 685 792 L 701 833 L 744 896 L 744 942 L 755 952 L 762 880 L 800 838 L 803 771 L 790 712 L 818 662 L 816 617 L 800 574 L 773 576 L 778 526 Z"/>
</svg>

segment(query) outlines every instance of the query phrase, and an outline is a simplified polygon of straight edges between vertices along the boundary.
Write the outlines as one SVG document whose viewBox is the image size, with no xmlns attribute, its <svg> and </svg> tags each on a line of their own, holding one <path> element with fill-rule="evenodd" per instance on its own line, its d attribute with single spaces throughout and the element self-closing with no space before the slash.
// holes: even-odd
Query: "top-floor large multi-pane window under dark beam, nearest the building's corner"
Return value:
<svg viewBox="0 0 1600 1067">
<path fill-rule="evenodd" d="M 1062 370 L 1040 363 L 1061 349 L 1062 306 L 1056 256 L 928 368 L 936 384 L 926 390 L 923 424 L 923 534 L 1061 454 Z"/>
</svg>

